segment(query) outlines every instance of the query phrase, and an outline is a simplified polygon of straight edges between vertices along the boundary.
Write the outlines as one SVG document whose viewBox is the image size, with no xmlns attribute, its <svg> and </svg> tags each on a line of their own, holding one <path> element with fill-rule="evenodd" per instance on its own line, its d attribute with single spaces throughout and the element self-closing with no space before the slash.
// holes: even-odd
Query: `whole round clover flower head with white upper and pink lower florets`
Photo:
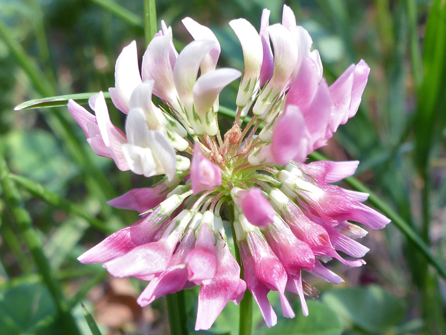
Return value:
<svg viewBox="0 0 446 335">
<path fill-rule="evenodd" d="M 182 22 L 194 41 L 179 54 L 162 21 L 141 72 L 136 43 L 125 47 L 109 90 L 114 106 L 127 114 L 125 134 L 111 123 L 102 92 L 89 101 L 95 115 L 68 103 L 98 155 L 113 159 L 122 171 L 165 175 L 152 188 L 111 200 L 114 207 L 137 210 L 141 219 L 79 261 L 105 262 L 114 276 L 150 281 L 138 298 L 141 306 L 201 285 L 196 330 L 209 329 L 246 289 L 268 327 L 277 323 L 270 290 L 278 291 L 285 317 L 294 317 L 285 291 L 299 295 L 308 315 L 304 295 L 314 298 L 318 291 L 302 270 L 342 282 L 323 263 L 335 258 L 358 267 L 369 250 L 355 241 L 367 232 L 349 220 L 372 229 L 390 221 L 362 204 L 367 194 L 331 185 L 353 175 L 357 161 L 305 163 L 355 115 L 369 67 L 360 61 L 329 86 L 319 53 L 311 51 L 312 40 L 296 25 L 292 10 L 283 7 L 281 24 L 269 25 L 269 14 L 263 11 L 259 33 L 245 19 L 229 22 L 243 50 L 243 72 L 216 68 L 220 44 L 191 18 Z M 235 122 L 222 138 L 218 97 L 239 77 Z M 164 107 L 156 106 L 152 95 Z M 242 274 L 226 231 L 232 233 Z"/>
</svg>

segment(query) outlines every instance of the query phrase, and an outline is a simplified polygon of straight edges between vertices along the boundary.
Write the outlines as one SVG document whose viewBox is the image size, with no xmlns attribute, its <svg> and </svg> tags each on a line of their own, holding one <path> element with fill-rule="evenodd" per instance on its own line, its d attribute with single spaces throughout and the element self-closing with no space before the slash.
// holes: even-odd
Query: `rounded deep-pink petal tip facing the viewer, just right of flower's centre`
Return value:
<svg viewBox="0 0 446 335">
<path fill-rule="evenodd" d="M 247 192 L 242 203 L 243 214 L 249 223 L 266 227 L 272 223 L 276 214 L 270 201 L 262 194 L 259 188 L 251 188 Z"/>
</svg>

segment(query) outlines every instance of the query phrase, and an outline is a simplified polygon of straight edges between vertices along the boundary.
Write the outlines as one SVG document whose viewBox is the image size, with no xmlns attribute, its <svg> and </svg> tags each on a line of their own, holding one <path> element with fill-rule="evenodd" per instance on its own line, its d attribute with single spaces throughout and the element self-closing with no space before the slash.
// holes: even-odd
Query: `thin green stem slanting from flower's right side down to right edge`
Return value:
<svg viewBox="0 0 446 335">
<path fill-rule="evenodd" d="M 327 157 L 314 151 L 310 154 L 310 157 L 315 160 L 326 160 Z M 392 223 L 406 236 L 406 238 L 414 243 L 418 251 L 423 254 L 426 259 L 432 264 L 434 268 L 437 269 L 438 273 L 446 279 L 446 269 L 440 260 L 438 260 L 430 251 L 429 246 L 423 241 L 423 239 L 412 229 L 412 227 L 404 221 L 404 219 L 395 213 L 390 206 L 382 201 L 376 194 L 372 192 L 368 187 L 358 181 L 356 178 L 348 177 L 344 181 L 350 185 L 353 189 L 359 192 L 364 192 L 369 194 L 370 203 L 377 207 L 381 212 L 383 212 L 387 217 L 392 220 Z"/>
</svg>

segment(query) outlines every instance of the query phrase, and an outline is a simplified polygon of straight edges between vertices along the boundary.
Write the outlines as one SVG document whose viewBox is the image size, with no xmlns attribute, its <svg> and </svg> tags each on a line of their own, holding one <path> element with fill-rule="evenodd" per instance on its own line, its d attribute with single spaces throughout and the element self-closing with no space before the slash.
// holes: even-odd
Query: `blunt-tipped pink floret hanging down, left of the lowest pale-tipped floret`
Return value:
<svg viewBox="0 0 446 335">
<path fill-rule="evenodd" d="M 188 280 L 197 284 L 210 284 L 215 276 L 217 258 L 214 248 L 214 232 L 206 222 L 198 230 L 194 248 L 185 259 Z"/>
</svg>

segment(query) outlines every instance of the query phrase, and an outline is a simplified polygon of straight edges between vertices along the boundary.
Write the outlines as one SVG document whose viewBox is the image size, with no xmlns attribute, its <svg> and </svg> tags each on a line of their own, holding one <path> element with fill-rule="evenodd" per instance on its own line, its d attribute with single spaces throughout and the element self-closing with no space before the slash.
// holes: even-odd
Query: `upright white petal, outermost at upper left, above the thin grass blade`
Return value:
<svg viewBox="0 0 446 335">
<path fill-rule="evenodd" d="M 138 66 L 138 54 L 136 51 L 136 42 L 133 41 L 122 49 L 116 61 L 114 71 L 116 93 L 119 97 L 121 107 L 128 112 L 128 102 L 133 90 L 141 81 Z"/>
</svg>

